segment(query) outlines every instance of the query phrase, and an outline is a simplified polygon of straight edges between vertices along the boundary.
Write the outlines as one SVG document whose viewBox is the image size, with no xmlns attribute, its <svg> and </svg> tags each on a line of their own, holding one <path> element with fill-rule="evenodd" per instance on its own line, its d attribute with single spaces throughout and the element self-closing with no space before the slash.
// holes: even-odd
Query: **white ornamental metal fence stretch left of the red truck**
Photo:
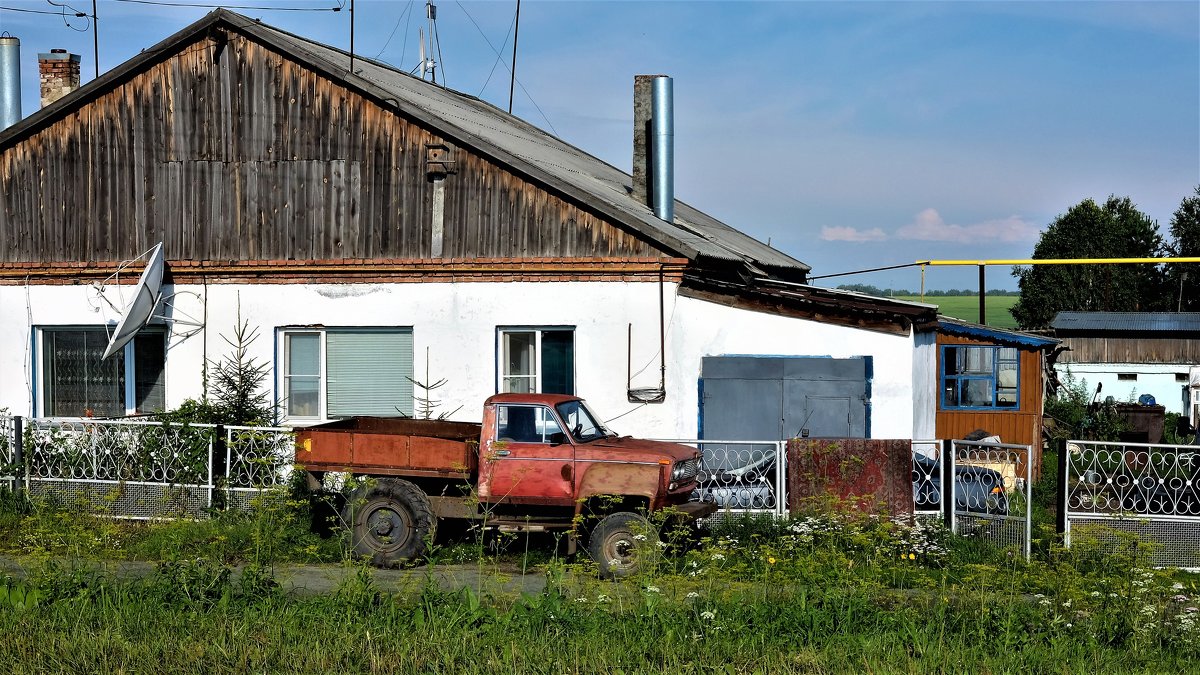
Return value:
<svg viewBox="0 0 1200 675">
<path fill-rule="evenodd" d="M 292 431 L 275 426 L 8 418 L 0 434 L 30 495 L 133 519 L 245 507 L 286 477 L 294 452 Z"/>
</svg>

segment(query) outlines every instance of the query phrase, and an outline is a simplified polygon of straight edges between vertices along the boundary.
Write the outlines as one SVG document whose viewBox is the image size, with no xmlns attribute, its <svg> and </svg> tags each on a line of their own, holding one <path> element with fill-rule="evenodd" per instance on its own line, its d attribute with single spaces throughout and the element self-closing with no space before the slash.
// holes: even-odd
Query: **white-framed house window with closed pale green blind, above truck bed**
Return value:
<svg viewBox="0 0 1200 675">
<path fill-rule="evenodd" d="M 289 418 L 413 414 L 412 328 L 282 330 Z"/>
</svg>

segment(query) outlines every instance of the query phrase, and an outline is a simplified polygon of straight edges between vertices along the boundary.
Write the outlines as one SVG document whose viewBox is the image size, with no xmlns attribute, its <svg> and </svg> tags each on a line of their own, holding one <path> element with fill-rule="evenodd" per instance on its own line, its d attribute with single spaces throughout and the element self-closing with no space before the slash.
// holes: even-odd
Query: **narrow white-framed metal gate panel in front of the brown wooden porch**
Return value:
<svg viewBox="0 0 1200 675">
<path fill-rule="evenodd" d="M 950 530 L 1015 548 L 1028 560 L 1033 489 L 1030 460 L 1030 446 L 950 441 Z"/>
</svg>

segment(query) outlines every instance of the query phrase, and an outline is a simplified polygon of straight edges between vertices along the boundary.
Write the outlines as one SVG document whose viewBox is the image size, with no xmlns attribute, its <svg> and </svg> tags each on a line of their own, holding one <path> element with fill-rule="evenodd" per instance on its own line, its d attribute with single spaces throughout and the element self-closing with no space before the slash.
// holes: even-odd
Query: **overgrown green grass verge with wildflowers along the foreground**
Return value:
<svg viewBox="0 0 1200 675">
<path fill-rule="evenodd" d="M 136 534 L 108 521 L 118 531 L 86 545 L 49 532 L 104 519 L 5 503 L 5 538 L 44 545 L 47 558 L 26 580 L 0 580 L 0 662 L 13 671 L 1189 671 L 1200 658 L 1196 577 L 1148 568 L 1134 539 L 1049 542 L 1026 562 L 940 527 L 826 508 L 726 522 L 698 540 L 648 538 L 644 572 L 623 583 L 544 552 L 530 567 L 548 580 L 539 595 L 448 592 L 432 579 L 384 593 L 354 567 L 336 592 L 299 597 L 280 591 L 271 565 L 346 558 L 287 495 Z M 115 555 L 164 555 L 138 580 L 78 561 L 115 540 Z M 469 542 L 445 550 L 494 561 Z M 233 575 L 233 562 L 248 567 Z"/>
</svg>

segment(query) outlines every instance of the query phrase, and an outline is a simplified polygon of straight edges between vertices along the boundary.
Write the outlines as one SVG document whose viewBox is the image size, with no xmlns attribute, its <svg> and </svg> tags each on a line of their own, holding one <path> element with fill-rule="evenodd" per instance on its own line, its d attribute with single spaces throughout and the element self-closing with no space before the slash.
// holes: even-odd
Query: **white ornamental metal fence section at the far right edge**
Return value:
<svg viewBox="0 0 1200 675">
<path fill-rule="evenodd" d="M 1153 543 L 1154 565 L 1200 569 L 1200 447 L 1068 441 L 1064 542 L 1121 532 Z"/>
</svg>

